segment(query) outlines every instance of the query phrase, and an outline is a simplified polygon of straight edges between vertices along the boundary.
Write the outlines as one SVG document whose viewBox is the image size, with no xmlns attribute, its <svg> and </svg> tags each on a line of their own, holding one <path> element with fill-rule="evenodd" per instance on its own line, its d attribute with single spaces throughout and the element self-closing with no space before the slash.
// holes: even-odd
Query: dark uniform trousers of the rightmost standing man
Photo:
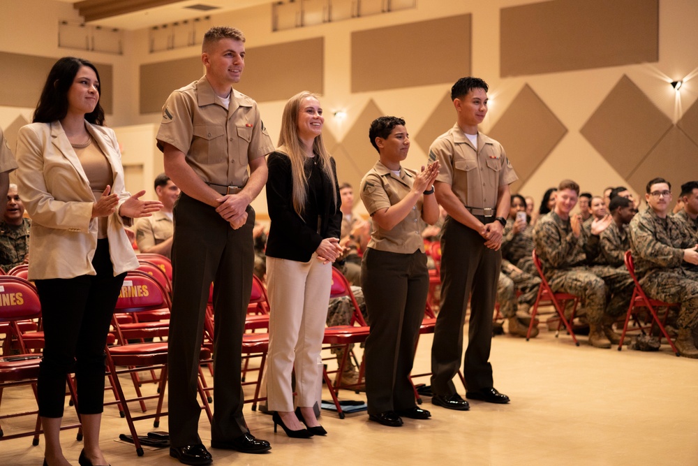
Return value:
<svg viewBox="0 0 698 466">
<path fill-rule="evenodd" d="M 491 218 L 478 217 L 483 223 Z M 441 236 L 441 305 L 431 347 L 431 389 L 437 395 L 456 393 L 453 377 L 461 365 L 463 323 L 470 299 L 468 348 L 463 377 L 468 391 L 493 385 L 489 353 L 492 314 L 502 254 L 484 246 L 472 228 L 447 217 Z"/>
</svg>

